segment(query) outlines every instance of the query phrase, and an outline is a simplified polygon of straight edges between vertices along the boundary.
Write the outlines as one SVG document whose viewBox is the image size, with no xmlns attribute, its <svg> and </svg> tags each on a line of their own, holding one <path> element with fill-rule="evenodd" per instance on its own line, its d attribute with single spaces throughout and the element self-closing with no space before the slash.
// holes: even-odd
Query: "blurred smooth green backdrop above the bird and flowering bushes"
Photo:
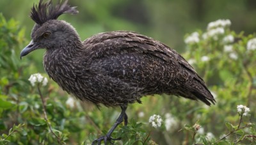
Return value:
<svg viewBox="0 0 256 145">
<path fill-rule="evenodd" d="M 2 0 L 0 12 L 26 27 L 26 37 L 34 25 L 29 18 L 38 0 Z M 250 34 L 256 31 L 255 0 L 72 0 L 79 14 L 63 15 L 77 29 L 81 39 L 106 31 L 136 31 L 162 41 L 178 52 L 184 50 L 184 35 L 206 29 L 209 22 L 230 19 L 231 29 Z"/>
</svg>

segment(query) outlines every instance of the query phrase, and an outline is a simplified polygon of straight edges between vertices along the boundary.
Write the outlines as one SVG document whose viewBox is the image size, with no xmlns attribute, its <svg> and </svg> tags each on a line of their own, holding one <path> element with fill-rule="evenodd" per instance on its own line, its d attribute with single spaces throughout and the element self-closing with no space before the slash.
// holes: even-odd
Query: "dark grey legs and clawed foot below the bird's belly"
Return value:
<svg viewBox="0 0 256 145">
<path fill-rule="evenodd" d="M 121 113 L 118 116 L 115 124 L 113 125 L 113 127 L 110 128 L 110 130 L 108 131 L 108 133 L 105 136 L 101 136 L 98 139 L 95 139 L 92 144 L 95 144 L 96 142 L 98 142 L 98 144 L 101 144 L 102 141 L 104 141 L 104 144 L 107 144 L 107 141 L 109 141 L 111 144 L 113 144 L 113 142 L 111 142 L 111 140 L 116 141 L 116 140 L 120 140 L 121 137 L 119 137 L 118 139 L 114 139 L 113 137 L 111 137 L 111 134 L 114 132 L 115 128 L 122 123 L 122 121 L 124 121 L 125 125 L 127 125 L 128 123 L 128 117 L 127 114 L 125 113 L 127 106 L 121 106 Z"/>
</svg>

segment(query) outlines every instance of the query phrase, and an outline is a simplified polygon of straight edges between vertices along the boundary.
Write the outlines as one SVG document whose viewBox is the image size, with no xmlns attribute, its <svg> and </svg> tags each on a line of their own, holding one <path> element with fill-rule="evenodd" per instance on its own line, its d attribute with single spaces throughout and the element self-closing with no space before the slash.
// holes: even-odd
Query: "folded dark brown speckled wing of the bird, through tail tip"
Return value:
<svg viewBox="0 0 256 145">
<path fill-rule="evenodd" d="M 208 100 L 212 102 L 211 93 L 193 67 L 159 41 L 134 32 L 113 31 L 92 36 L 83 44 L 84 52 L 90 56 L 86 59 L 87 68 L 97 74 L 111 76 L 132 87 L 145 87 L 144 94 L 170 91 L 208 105 Z M 184 93 L 180 87 L 190 92 Z"/>
</svg>

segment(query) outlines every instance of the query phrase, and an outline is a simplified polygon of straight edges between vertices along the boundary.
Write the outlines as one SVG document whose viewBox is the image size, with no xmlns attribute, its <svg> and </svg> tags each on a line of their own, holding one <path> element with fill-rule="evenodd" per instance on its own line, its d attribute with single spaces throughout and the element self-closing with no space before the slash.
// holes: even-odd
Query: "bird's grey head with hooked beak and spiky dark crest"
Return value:
<svg viewBox="0 0 256 145">
<path fill-rule="evenodd" d="M 46 3 L 40 0 L 38 6 L 34 4 L 30 17 L 36 24 L 31 32 L 29 45 L 20 52 L 20 59 L 33 50 L 60 48 L 77 39 L 78 34 L 72 25 L 57 20 L 63 13 L 78 13 L 76 7 L 69 6 L 67 2 L 68 0 L 61 4 L 58 1 L 53 5 L 51 0 Z"/>
</svg>

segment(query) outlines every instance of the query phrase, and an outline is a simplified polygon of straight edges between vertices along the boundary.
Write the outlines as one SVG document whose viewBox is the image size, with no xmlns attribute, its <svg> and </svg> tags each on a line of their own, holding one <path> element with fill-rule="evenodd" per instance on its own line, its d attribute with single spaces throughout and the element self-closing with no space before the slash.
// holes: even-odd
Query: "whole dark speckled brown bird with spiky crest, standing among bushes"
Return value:
<svg viewBox="0 0 256 145">
<path fill-rule="evenodd" d="M 33 4 L 30 17 L 35 25 L 20 59 L 44 48 L 44 69 L 63 90 L 97 107 L 121 107 L 113 127 L 92 144 L 120 140 L 111 134 L 123 121 L 127 125 L 127 106 L 141 103 L 146 95 L 165 93 L 208 106 L 216 103 L 195 69 L 160 41 L 132 31 L 102 32 L 81 41 L 71 24 L 58 20 L 64 13 L 77 14 L 76 8 L 68 0 Z"/>
</svg>

